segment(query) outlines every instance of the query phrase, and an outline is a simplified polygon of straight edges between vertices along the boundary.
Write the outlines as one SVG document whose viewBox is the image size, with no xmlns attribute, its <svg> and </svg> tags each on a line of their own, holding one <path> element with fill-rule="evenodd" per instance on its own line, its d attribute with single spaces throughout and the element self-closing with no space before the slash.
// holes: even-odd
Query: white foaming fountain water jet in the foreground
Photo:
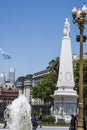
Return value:
<svg viewBox="0 0 87 130">
<path fill-rule="evenodd" d="M 4 111 L 10 130 L 32 130 L 31 106 L 25 95 L 20 95 Z"/>
</svg>

